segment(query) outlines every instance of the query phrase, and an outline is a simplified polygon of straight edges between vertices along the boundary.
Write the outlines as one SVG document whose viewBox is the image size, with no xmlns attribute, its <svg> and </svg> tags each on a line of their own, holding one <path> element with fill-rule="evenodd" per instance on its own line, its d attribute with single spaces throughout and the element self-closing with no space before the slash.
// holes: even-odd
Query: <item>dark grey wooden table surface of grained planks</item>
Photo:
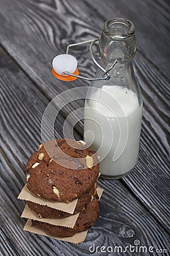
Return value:
<svg viewBox="0 0 170 256">
<path fill-rule="evenodd" d="M 134 67 L 144 103 L 137 166 L 123 179 L 99 180 L 104 188 L 100 217 L 83 243 L 24 232 L 26 220 L 20 214 L 25 203 L 17 197 L 25 184 L 27 160 L 41 143 L 42 114 L 59 93 L 89 85 L 56 80 L 52 59 L 65 53 L 69 43 L 100 37 L 105 20 L 117 16 L 130 19 L 136 28 Z M 1 255 L 170 255 L 168 18 L 167 0 L 0 0 Z M 79 72 L 94 76 L 88 46 L 71 52 Z M 56 137 L 63 137 L 65 118 L 81 106 L 83 101 L 75 102 L 59 113 Z M 74 135 L 83 138 L 82 122 Z M 89 251 L 94 244 L 125 249 L 135 240 L 147 249 L 153 246 L 154 253 Z"/>
</svg>

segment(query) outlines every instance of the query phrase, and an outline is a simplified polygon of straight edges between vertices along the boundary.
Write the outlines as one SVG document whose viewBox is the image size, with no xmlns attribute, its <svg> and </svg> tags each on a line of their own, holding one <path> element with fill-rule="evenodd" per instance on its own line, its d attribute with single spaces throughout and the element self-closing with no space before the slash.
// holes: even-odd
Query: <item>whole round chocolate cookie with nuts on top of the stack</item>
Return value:
<svg viewBox="0 0 170 256">
<path fill-rule="evenodd" d="M 46 142 L 32 154 L 25 168 L 29 191 L 47 200 L 69 203 L 95 185 L 99 175 L 95 151 L 73 139 L 67 142 Z"/>
</svg>

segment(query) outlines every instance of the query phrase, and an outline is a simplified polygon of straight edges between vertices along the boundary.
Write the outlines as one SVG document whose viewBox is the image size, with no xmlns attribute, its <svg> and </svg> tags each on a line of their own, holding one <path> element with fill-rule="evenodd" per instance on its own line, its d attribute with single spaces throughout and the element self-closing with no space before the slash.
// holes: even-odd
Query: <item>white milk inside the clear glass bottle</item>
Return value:
<svg viewBox="0 0 170 256">
<path fill-rule="evenodd" d="M 85 102 L 84 134 L 88 130 L 94 133 L 91 147 L 98 150 L 100 160 L 107 155 L 100 162 L 100 173 L 124 175 L 134 168 L 138 160 L 142 105 L 139 106 L 138 97 L 132 90 L 117 85 L 104 85 L 102 91 L 97 89 L 91 98 L 93 100 Z M 92 133 L 88 131 L 84 136 L 88 145 L 92 142 Z M 113 158 L 115 152 L 117 154 Z"/>
</svg>

